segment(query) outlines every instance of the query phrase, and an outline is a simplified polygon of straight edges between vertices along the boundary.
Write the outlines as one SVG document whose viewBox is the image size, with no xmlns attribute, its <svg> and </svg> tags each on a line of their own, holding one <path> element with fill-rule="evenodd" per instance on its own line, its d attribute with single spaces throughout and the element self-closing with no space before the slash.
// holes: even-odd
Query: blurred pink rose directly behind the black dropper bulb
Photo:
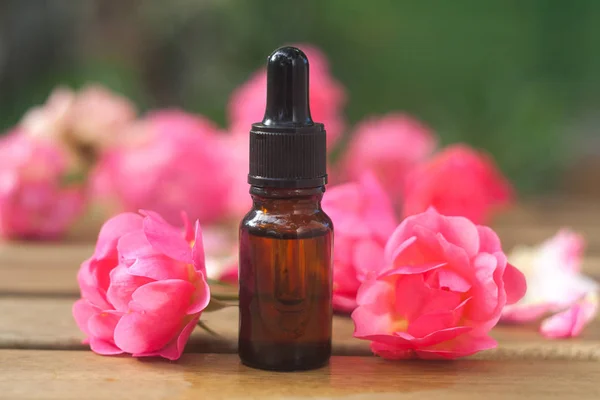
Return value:
<svg viewBox="0 0 600 400">
<path fill-rule="evenodd" d="M 294 45 L 301 49 L 310 63 L 310 109 L 313 120 L 325 124 L 327 144 L 331 148 L 341 136 L 345 121 L 344 87 L 331 75 L 325 55 L 312 45 Z M 267 102 L 267 73 L 261 68 L 237 88 L 229 102 L 230 131 L 247 135 L 253 123 L 262 120 Z"/>
</svg>

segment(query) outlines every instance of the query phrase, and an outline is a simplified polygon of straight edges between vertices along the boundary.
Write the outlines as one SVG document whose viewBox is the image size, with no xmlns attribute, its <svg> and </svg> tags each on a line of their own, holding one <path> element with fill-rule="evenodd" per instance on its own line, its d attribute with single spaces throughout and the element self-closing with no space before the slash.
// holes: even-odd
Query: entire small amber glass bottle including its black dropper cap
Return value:
<svg viewBox="0 0 600 400">
<path fill-rule="evenodd" d="M 313 122 L 308 59 L 267 62 L 267 107 L 250 131 L 253 207 L 240 225 L 239 356 L 254 368 L 318 368 L 331 355 L 333 224 L 323 124 Z"/>
</svg>

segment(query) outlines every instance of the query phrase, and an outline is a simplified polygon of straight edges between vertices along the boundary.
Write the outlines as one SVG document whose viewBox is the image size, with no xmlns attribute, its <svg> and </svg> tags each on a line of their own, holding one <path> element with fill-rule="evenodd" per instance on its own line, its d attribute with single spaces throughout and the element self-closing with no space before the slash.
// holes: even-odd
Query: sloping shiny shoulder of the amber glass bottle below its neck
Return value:
<svg viewBox="0 0 600 400">
<path fill-rule="evenodd" d="M 253 209 L 242 219 L 241 231 L 260 236 L 311 237 L 333 232 L 333 222 L 323 210 L 274 213 Z"/>
</svg>

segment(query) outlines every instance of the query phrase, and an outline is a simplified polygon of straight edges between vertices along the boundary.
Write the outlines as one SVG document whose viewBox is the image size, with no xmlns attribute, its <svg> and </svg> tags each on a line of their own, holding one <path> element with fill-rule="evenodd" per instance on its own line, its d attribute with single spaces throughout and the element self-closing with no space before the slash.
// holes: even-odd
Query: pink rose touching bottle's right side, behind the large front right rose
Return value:
<svg viewBox="0 0 600 400">
<path fill-rule="evenodd" d="M 368 173 L 329 188 L 322 204 L 335 227 L 333 307 L 351 312 L 361 282 L 384 266 L 383 249 L 398 222 L 387 194 Z"/>
</svg>

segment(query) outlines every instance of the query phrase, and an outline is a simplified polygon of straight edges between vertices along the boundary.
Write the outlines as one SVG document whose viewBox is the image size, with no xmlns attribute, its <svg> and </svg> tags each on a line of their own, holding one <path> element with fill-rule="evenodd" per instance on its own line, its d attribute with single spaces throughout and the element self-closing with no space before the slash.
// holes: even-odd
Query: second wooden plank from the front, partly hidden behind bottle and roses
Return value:
<svg viewBox="0 0 600 400">
<path fill-rule="evenodd" d="M 0 348 L 66 349 L 87 348 L 71 316 L 72 300 L 24 297 L 0 298 Z M 238 314 L 235 307 L 205 313 L 202 320 L 219 337 L 200 329 L 192 334 L 187 352 L 234 353 L 237 349 Z M 337 355 L 369 355 L 369 344 L 352 337 L 354 326 L 346 316 L 334 318 L 333 352 Z M 535 326 L 506 326 L 494 329 L 497 349 L 477 355 L 481 359 L 562 359 L 600 361 L 600 320 L 586 328 L 581 337 L 547 340 Z"/>
</svg>

